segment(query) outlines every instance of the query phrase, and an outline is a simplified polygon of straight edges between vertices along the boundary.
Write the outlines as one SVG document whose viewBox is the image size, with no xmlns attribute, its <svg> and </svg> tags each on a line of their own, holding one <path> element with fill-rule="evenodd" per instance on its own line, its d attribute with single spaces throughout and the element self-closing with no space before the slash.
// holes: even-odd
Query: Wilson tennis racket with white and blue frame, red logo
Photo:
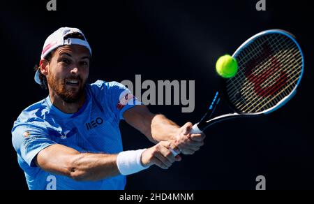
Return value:
<svg viewBox="0 0 314 204">
<path fill-rule="evenodd" d="M 224 79 L 206 114 L 190 133 L 202 133 L 225 119 L 269 114 L 297 92 L 304 73 L 304 55 L 287 31 L 262 31 L 243 43 L 232 57 L 238 62 L 237 74 Z M 221 100 L 227 101 L 230 112 L 213 117 Z M 177 152 L 172 150 L 172 154 Z"/>
</svg>

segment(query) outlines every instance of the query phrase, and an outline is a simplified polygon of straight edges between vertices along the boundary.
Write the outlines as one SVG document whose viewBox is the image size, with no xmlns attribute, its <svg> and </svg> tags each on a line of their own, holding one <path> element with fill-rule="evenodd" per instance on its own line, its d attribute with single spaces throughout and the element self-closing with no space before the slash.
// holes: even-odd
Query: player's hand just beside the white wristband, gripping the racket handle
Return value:
<svg viewBox="0 0 314 204">
<path fill-rule="evenodd" d="M 174 140 L 160 141 L 157 145 L 150 147 L 142 153 L 142 165 L 157 165 L 160 168 L 167 169 L 172 166 L 174 161 L 181 161 L 181 156 L 173 156 L 169 149 L 179 151 L 174 145 Z"/>
</svg>

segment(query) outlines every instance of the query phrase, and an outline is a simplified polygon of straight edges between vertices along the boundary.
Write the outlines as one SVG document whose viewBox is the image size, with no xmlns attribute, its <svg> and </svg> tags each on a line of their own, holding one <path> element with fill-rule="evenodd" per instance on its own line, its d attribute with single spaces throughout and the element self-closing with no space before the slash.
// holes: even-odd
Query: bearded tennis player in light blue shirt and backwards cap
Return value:
<svg viewBox="0 0 314 204">
<path fill-rule="evenodd" d="M 124 189 L 126 175 L 167 169 L 181 160 L 172 151 L 193 154 L 203 145 L 204 134 L 190 134 L 190 122 L 179 127 L 152 114 L 124 85 L 87 84 L 90 60 L 79 29 L 62 27 L 45 41 L 35 81 L 49 95 L 24 109 L 12 129 L 29 189 Z M 123 151 L 121 119 L 156 145 Z"/>
</svg>

